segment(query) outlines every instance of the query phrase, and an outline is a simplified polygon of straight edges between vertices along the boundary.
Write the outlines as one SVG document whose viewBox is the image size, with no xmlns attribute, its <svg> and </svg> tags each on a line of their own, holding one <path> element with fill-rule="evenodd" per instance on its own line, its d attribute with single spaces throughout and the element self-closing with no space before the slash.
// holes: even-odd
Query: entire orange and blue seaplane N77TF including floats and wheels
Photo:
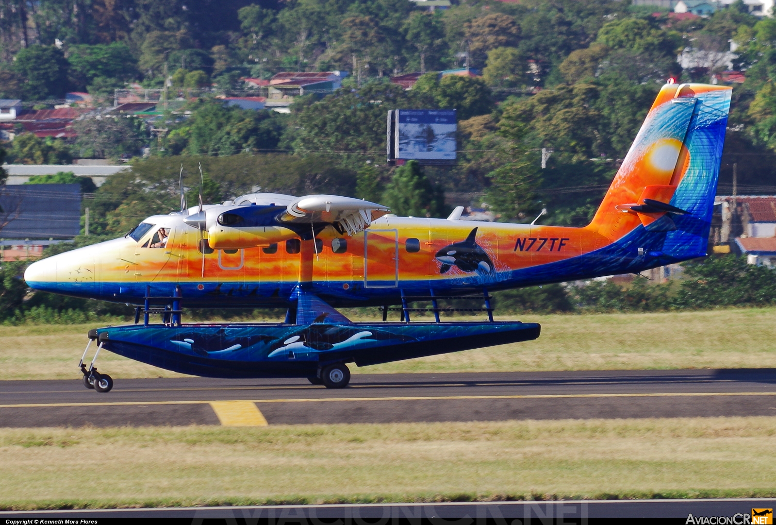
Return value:
<svg viewBox="0 0 776 525">
<path fill-rule="evenodd" d="M 101 349 L 185 374 L 341 388 L 348 363 L 528 341 L 539 325 L 495 321 L 490 291 L 705 256 L 730 95 L 720 85 L 664 85 L 583 228 L 475 225 L 455 212 L 397 217 L 346 196 L 252 193 L 148 217 L 122 238 L 33 263 L 25 279 L 36 290 L 137 306 L 135 324 L 88 334 L 97 349 L 87 364 L 87 345 L 79 367 L 97 391 L 113 386 L 95 367 Z M 445 307 L 462 298 L 473 307 Z M 383 322 L 337 310 L 355 306 L 381 307 Z M 286 319 L 189 324 L 183 307 L 284 308 Z M 417 311 L 435 321 L 418 322 Z M 445 321 L 445 311 L 488 320 Z"/>
</svg>

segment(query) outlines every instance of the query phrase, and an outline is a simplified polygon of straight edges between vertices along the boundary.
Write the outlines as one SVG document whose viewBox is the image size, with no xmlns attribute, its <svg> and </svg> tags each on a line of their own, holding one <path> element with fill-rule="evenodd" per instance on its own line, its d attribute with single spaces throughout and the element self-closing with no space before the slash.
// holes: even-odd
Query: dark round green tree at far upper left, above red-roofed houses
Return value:
<svg viewBox="0 0 776 525">
<path fill-rule="evenodd" d="M 62 99 L 68 90 L 68 61 L 56 47 L 26 47 L 16 54 L 13 68 L 23 78 L 27 100 Z"/>
</svg>

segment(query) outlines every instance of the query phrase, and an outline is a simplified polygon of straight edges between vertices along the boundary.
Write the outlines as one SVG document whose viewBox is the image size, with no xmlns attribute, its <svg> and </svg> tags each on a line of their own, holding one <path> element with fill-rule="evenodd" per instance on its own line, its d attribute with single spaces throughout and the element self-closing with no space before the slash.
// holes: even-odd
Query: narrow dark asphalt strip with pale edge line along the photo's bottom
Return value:
<svg viewBox="0 0 776 525">
<path fill-rule="evenodd" d="M 753 511 L 771 510 L 776 499 L 641 499 L 599 501 L 428 502 L 364 505 L 287 505 L 166 509 L 85 509 L 0 512 L 2 523 L 756 523 Z M 693 516 L 690 518 L 690 516 Z M 713 517 L 709 517 L 713 516 Z M 720 516 L 720 520 L 717 516 Z M 340 519 L 337 522 L 328 520 Z M 344 520 L 342 520 L 344 519 Z M 365 522 L 365 519 L 376 521 Z M 421 519 L 424 521 L 421 522 Z M 640 520 L 639 520 L 640 519 Z M 646 521 L 646 520 L 650 521 Z M 29 521 L 28 521 L 29 520 Z M 62 521 L 57 521 L 62 520 Z M 321 520 L 327 520 L 322 522 Z M 761 523 L 771 523 L 761 520 Z"/>
</svg>

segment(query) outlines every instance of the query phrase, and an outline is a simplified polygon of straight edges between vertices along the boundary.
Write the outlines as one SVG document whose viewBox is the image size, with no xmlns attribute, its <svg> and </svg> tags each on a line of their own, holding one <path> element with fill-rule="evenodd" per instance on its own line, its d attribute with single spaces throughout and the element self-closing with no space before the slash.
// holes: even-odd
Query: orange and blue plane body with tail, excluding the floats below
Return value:
<svg viewBox="0 0 776 525">
<path fill-rule="evenodd" d="M 217 222 L 190 220 L 196 209 L 149 217 L 126 237 L 34 263 L 25 278 L 39 290 L 129 304 L 178 287 L 192 308 L 282 307 L 302 284 L 334 306 L 356 306 L 691 259 L 706 251 L 729 101 L 726 87 L 665 85 L 584 228 L 376 213 L 362 214 L 359 228 L 295 197 L 258 194 L 210 208 Z"/>
</svg>

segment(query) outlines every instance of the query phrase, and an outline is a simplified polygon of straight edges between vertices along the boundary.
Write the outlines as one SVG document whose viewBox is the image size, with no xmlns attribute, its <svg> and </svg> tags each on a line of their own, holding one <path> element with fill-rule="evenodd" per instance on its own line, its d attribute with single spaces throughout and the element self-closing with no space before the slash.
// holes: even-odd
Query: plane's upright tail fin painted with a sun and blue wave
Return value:
<svg viewBox="0 0 776 525">
<path fill-rule="evenodd" d="M 719 85 L 663 85 L 587 228 L 611 242 L 639 226 L 672 231 L 664 250 L 705 252 L 730 95 Z"/>
</svg>

